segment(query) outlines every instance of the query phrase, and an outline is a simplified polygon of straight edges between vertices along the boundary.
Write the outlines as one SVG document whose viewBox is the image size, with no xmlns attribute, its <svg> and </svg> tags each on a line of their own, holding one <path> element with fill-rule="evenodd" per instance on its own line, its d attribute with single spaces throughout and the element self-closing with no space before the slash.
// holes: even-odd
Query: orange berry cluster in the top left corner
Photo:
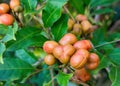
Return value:
<svg viewBox="0 0 120 86">
<path fill-rule="evenodd" d="M 14 17 L 9 13 L 10 9 L 14 12 L 22 11 L 19 0 L 10 0 L 10 4 L 1 3 L 0 4 L 0 24 L 12 25 L 14 22 Z"/>
</svg>

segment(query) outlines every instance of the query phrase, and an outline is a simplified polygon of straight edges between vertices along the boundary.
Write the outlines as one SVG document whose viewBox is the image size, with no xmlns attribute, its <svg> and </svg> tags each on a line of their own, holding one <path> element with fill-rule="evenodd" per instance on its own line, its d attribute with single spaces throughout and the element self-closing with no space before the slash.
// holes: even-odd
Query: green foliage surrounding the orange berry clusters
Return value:
<svg viewBox="0 0 120 86">
<path fill-rule="evenodd" d="M 69 68 L 70 73 L 64 73 L 62 68 L 58 68 L 58 64 L 47 66 L 43 61 L 45 52 L 42 46 L 47 40 L 58 42 L 68 33 L 68 19 L 84 14 L 91 24 L 99 26 L 90 40 L 93 44 L 91 51 L 99 55 L 100 64 L 90 73 L 95 78 L 94 75 L 102 69 L 108 70 L 107 78 L 111 80 L 111 86 L 119 86 L 120 33 L 117 30 L 111 32 L 109 29 L 110 25 L 115 23 L 112 18 L 117 13 L 114 10 L 117 7 L 116 2 L 118 0 L 20 0 L 24 8 L 22 17 L 19 17 L 19 12 L 15 14 L 10 11 L 16 19 L 14 24 L 0 24 L 0 83 L 6 86 L 70 84 L 74 70 Z M 102 15 L 102 21 L 96 22 L 94 18 L 99 15 Z M 78 39 L 81 39 L 80 36 Z M 62 66 L 63 69 L 66 67 Z M 87 84 L 96 85 L 97 82 L 93 82 L 91 79 Z"/>
</svg>

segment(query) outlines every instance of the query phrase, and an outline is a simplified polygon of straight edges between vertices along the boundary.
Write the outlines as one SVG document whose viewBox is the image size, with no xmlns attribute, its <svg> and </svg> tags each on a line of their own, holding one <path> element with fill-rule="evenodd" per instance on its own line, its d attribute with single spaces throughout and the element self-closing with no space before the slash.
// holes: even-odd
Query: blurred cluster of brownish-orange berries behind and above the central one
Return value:
<svg viewBox="0 0 120 86">
<path fill-rule="evenodd" d="M 85 15 L 78 14 L 75 20 L 68 20 L 68 32 L 75 35 L 91 35 L 93 30 L 93 25 L 88 21 Z"/>
</svg>

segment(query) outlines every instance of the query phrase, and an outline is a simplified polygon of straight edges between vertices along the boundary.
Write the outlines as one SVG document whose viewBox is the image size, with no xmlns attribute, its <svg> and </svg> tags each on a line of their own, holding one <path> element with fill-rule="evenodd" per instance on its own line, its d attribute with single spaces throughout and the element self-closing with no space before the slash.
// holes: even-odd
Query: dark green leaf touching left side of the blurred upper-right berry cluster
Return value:
<svg viewBox="0 0 120 86">
<path fill-rule="evenodd" d="M 61 37 L 67 33 L 67 22 L 68 16 L 62 15 L 61 18 L 51 27 L 52 34 L 56 41 L 59 41 Z"/>
</svg>

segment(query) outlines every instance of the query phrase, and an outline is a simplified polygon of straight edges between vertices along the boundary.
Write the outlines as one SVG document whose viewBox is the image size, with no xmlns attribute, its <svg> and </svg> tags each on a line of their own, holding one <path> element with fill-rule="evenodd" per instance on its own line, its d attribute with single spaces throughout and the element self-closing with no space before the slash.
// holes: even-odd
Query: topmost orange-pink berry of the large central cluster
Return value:
<svg viewBox="0 0 120 86">
<path fill-rule="evenodd" d="M 77 38 L 72 33 L 65 34 L 59 41 L 61 45 L 74 44 L 77 41 Z"/>
</svg>

